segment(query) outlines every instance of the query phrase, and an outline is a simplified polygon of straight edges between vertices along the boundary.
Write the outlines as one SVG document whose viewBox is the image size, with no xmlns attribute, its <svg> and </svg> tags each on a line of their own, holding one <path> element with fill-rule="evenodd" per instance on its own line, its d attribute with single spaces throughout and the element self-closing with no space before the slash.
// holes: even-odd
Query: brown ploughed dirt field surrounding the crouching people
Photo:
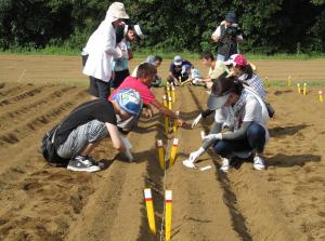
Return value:
<svg viewBox="0 0 325 241">
<path fill-rule="evenodd" d="M 156 113 L 142 118 L 130 134 L 135 162 L 123 162 L 107 140 L 94 157 L 108 169 L 75 173 L 47 164 L 39 143 L 72 108 L 88 101 L 79 64 L 76 57 L 0 55 L 0 240 L 159 240 L 159 233 L 148 235 L 146 187 L 153 190 L 158 229 L 164 187 L 173 191 L 172 240 L 325 240 L 325 103 L 317 101 L 318 89 L 307 96 L 296 88 L 268 89 L 276 116 L 269 122 L 265 171 L 243 163 L 225 175 L 212 151 L 199 162 L 212 169 L 185 169 L 181 161 L 200 145 L 199 133 L 212 120 L 166 136 Z M 306 80 L 310 73 L 301 66 L 316 65 L 287 64 Z M 273 62 L 258 66 L 269 77 L 277 69 Z M 286 70 L 276 70 L 274 79 L 286 78 Z M 312 80 L 325 80 L 324 75 L 320 70 Z M 155 93 L 160 99 L 162 89 Z M 173 108 L 188 121 L 206 108 L 200 88 L 178 88 L 177 94 Z M 180 139 L 178 158 L 164 177 L 155 140 L 173 136 Z"/>
</svg>

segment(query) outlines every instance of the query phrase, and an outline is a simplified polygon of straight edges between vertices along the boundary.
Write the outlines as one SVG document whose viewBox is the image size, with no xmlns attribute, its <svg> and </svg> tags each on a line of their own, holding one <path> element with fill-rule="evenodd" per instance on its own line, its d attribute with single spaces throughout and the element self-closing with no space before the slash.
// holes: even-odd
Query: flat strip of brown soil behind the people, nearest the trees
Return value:
<svg viewBox="0 0 325 241">
<path fill-rule="evenodd" d="M 143 59 L 132 59 L 132 70 Z M 190 59 L 195 68 L 206 76 L 208 69 L 200 61 Z M 165 59 L 158 69 L 167 78 L 170 59 Z M 325 61 L 253 61 L 259 75 L 269 80 L 286 81 L 291 76 L 292 82 L 325 81 Z M 0 55 L 0 81 L 25 83 L 62 83 L 88 85 L 88 79 L 81 73 L 81 57 L 76 56 L 26 56 Z"/>
</svg>

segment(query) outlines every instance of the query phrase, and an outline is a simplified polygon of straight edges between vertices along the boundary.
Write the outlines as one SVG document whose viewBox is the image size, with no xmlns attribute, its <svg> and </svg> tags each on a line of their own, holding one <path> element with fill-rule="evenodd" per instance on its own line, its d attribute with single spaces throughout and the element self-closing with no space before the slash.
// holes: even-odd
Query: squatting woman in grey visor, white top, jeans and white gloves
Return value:
<svg viewBox="0 0 325 241">
<path fill-rule="evenodd" d="M 240 107 L 234 111 L 238 104 Z M 223 172 L 229 171 L 231 158 L 248 158 L 251 155 L 253 168 L 263 170 L 265 165 L 262 153 L 269 139 L 265 123 L 270 117 L 265 103 L 256 91 L 236 77 L 221 76 L 212 85 L 208 108 L 216 110 L 213 132 L 217 134 L 204 136 L 204 146 L 192 152 L 183 164 L 195 168 L 197 158 L 212 145 L 214 151 L 222 157 L 220 170 Z"/>
</svg>

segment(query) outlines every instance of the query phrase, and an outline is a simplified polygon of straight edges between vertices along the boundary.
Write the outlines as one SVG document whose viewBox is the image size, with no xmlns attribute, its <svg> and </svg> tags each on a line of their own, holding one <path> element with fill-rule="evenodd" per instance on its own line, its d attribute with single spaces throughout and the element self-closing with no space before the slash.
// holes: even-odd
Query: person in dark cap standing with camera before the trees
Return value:
<svg viewBox="0 0 325 241">
<path fill-rule="evenodd" d="M 243 36 L 236 22 L 235 12 L 230 11 L 211 36 L 218 43 L 218 62 L 227 61 L 231 55 L 238 53 L 238 43 L 243 42 Z"/>
</svg>

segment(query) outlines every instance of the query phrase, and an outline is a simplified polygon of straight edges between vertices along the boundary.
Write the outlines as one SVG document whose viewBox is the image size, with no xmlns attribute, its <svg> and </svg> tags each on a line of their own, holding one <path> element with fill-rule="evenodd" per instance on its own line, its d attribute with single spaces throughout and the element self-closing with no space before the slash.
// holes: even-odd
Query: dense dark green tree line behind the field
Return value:
<svg viewBox="0 0 325 241">
<path fill-rule="evenodd" d="M 82 49 L 113 1 L 0 0 L 0 49 Z M 146 35 L 135 48 L 202 52 L 230 10 L 243 29 L 242 52 L 325 51 L 325 0 L 125 0 L 130 24 Z"/>
</svg>

